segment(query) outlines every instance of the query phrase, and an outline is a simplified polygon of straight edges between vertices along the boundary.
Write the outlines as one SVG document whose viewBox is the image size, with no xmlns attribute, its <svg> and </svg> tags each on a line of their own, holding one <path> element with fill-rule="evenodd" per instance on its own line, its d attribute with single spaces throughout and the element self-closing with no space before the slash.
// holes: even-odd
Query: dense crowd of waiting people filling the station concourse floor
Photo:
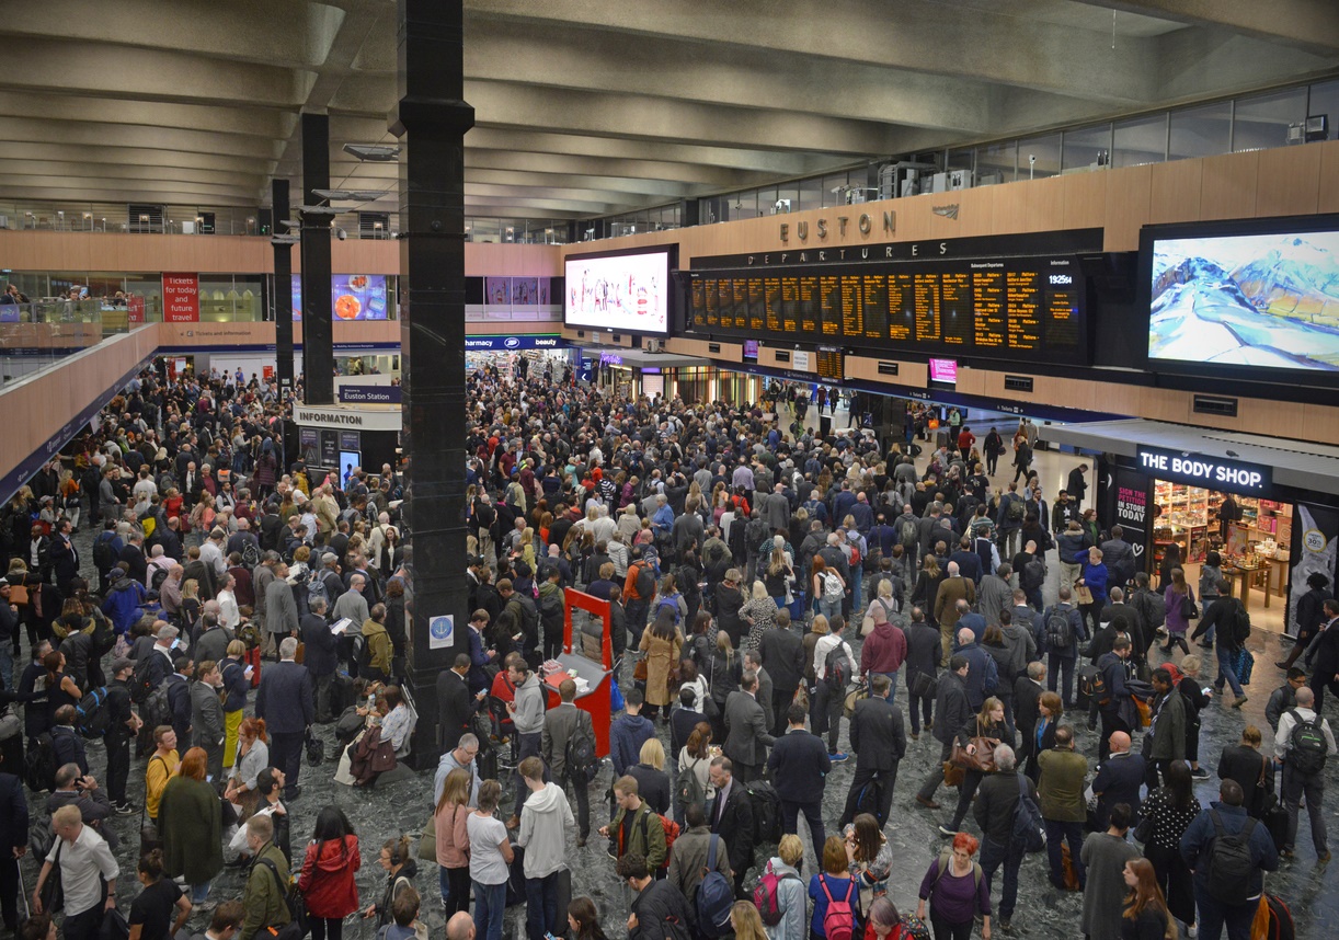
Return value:
<svg viewBox="0 0 1339 940">
<path fill-rule="evenodd" d="M 1097 518 L 1082 458 L 1048 503 L 1028 422 L 979 447 L 956 410 L 951 433 L 917 410 L 896 439 L 815 435 L 785 390 L 686 406 L 485 370 L 469 392 L 467 651 L 431 688 L 407 675 L 402 470 L 311 473 L 285 455 L 285 406 L 254 379 L 145 372 L 13 497 L 0 526 L 7 928 L 46 937 L 60 882 L 64 936 L 104 929 L 131 894 L 115 853 L 137 837 L 118 819 L 135 814 L 134 940 L 206 913 L 214 940 L 339 940 L 353 916 L 422 937 L 418 860 L 438 865 L 453 940 L 495 940 L 509 904 L 525 905 L 530 940 L 599 940 L 624 921 L 645 940 L 990 940 L 1026 927 L 1019 873 L 1043 849 L 1055 889 L 1083 893 L 1066 935 L 1244 940 L 1261 905 L 1283 916 L 1263 876 L 1296 854 L 1303 799 L 1328 861 L 1327 580 L 1310 585 L 1300 652 L 1265 710 L 1272 757 L 1245 726 L 1205 807 L 1201 728 L 1225 714 L 1212 708 L 1225 686 L 1233 707 L 1247 700 L 1249 616 L 1212 560 L 1197 592 L 1174 565 L 1154 588 Z M 996 482 L 1010 449 L 1014 481 Z M 80 525 L 96 530 L 88 558 Z M 576 682 L 550 707 L 568 589 L 609 605 L 608 637 L 597 617 L 573 636 L 577 652 L 613 649 L 608 757 Z M 1188 639 L 1213 648 L 1212 679 Z M 366 904 L 359 819 L 331 803 L 308 836 L 289 806 L 304 753 L 331 731 L 336 781 L 412 775 L 415 694 L 438 715 L 430 825 L 383 844 L 384 892 Z M 894 810 L 923 732 L 939 759 Z M 29 815 L 24 786 L 48 793 L 46 814 Z M 945 810 L 928 870 L 896 860 L 904 806 Z M 595 838 L 627 909 L 578 893 L 573 850 Z M 20 924 L 29 846 L 40 866 Z M 245 888 L 218 903 L 228 866 Z"/>
</svg>

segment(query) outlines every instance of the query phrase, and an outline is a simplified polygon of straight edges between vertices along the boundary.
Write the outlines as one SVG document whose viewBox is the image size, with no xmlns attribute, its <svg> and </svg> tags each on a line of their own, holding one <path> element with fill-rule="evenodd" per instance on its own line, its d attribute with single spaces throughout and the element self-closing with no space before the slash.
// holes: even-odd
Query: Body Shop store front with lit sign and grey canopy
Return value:
<svg viewBox="0 0 1339 940">
<path fill-rule="evenodd" d="M 1334 582 L 1339 449 L 1152 420 L 1044 433 L 1102 454 L 1099 520 L 1121 525 L 1154 585 L 1180 566 L 1197 588 L 1216 553 L 1252 624 L 1295 633 L 1307 578 L 1319 572 Z"/>
</svg>

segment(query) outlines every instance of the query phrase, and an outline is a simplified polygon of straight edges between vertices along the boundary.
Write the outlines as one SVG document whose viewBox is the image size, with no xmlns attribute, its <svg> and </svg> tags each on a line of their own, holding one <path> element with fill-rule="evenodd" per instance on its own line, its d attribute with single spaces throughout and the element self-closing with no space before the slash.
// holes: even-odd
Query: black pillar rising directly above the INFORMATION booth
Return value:
<svg viewBox="0 0 1339 940">
<path fill-rule="evenodd" d="M 313 189 L 331 185 L 331 121 L 303 115 L 303 205 L 325 206 Z M 335 402 L 335 328 L 331 320 L 331 220 L 304 212 L 303 221 L 303 386 L 308 404 Z"/>
</svg>

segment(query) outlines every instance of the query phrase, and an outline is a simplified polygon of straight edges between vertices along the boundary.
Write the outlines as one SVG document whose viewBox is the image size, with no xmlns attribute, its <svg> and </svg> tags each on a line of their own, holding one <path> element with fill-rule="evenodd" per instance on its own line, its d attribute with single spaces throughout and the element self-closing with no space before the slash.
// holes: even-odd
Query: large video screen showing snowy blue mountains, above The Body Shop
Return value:
<svg viewBox="0 0 1339 940">
<path fill-rule="evenodd" d="M 1149 241 L 1150 360 L 1339 372 L 1339 232 Z"/>
</svg>

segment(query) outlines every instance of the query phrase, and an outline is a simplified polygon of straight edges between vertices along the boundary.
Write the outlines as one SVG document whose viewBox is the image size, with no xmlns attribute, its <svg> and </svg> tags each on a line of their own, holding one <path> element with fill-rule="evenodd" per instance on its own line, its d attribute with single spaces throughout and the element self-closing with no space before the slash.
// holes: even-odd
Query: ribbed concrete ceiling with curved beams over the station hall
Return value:
<svg viewBox="0 0 1339 940">
<path fill-rule="evenodd" d="M 1339 67 L 1334 0 L 466 0 L 471 216 L 588 218 Z M 396 186 L 387 0 L 0 0 L 0 197 Z M 367 209 L 395 210 L 391 195 Z"/>
</svg>

